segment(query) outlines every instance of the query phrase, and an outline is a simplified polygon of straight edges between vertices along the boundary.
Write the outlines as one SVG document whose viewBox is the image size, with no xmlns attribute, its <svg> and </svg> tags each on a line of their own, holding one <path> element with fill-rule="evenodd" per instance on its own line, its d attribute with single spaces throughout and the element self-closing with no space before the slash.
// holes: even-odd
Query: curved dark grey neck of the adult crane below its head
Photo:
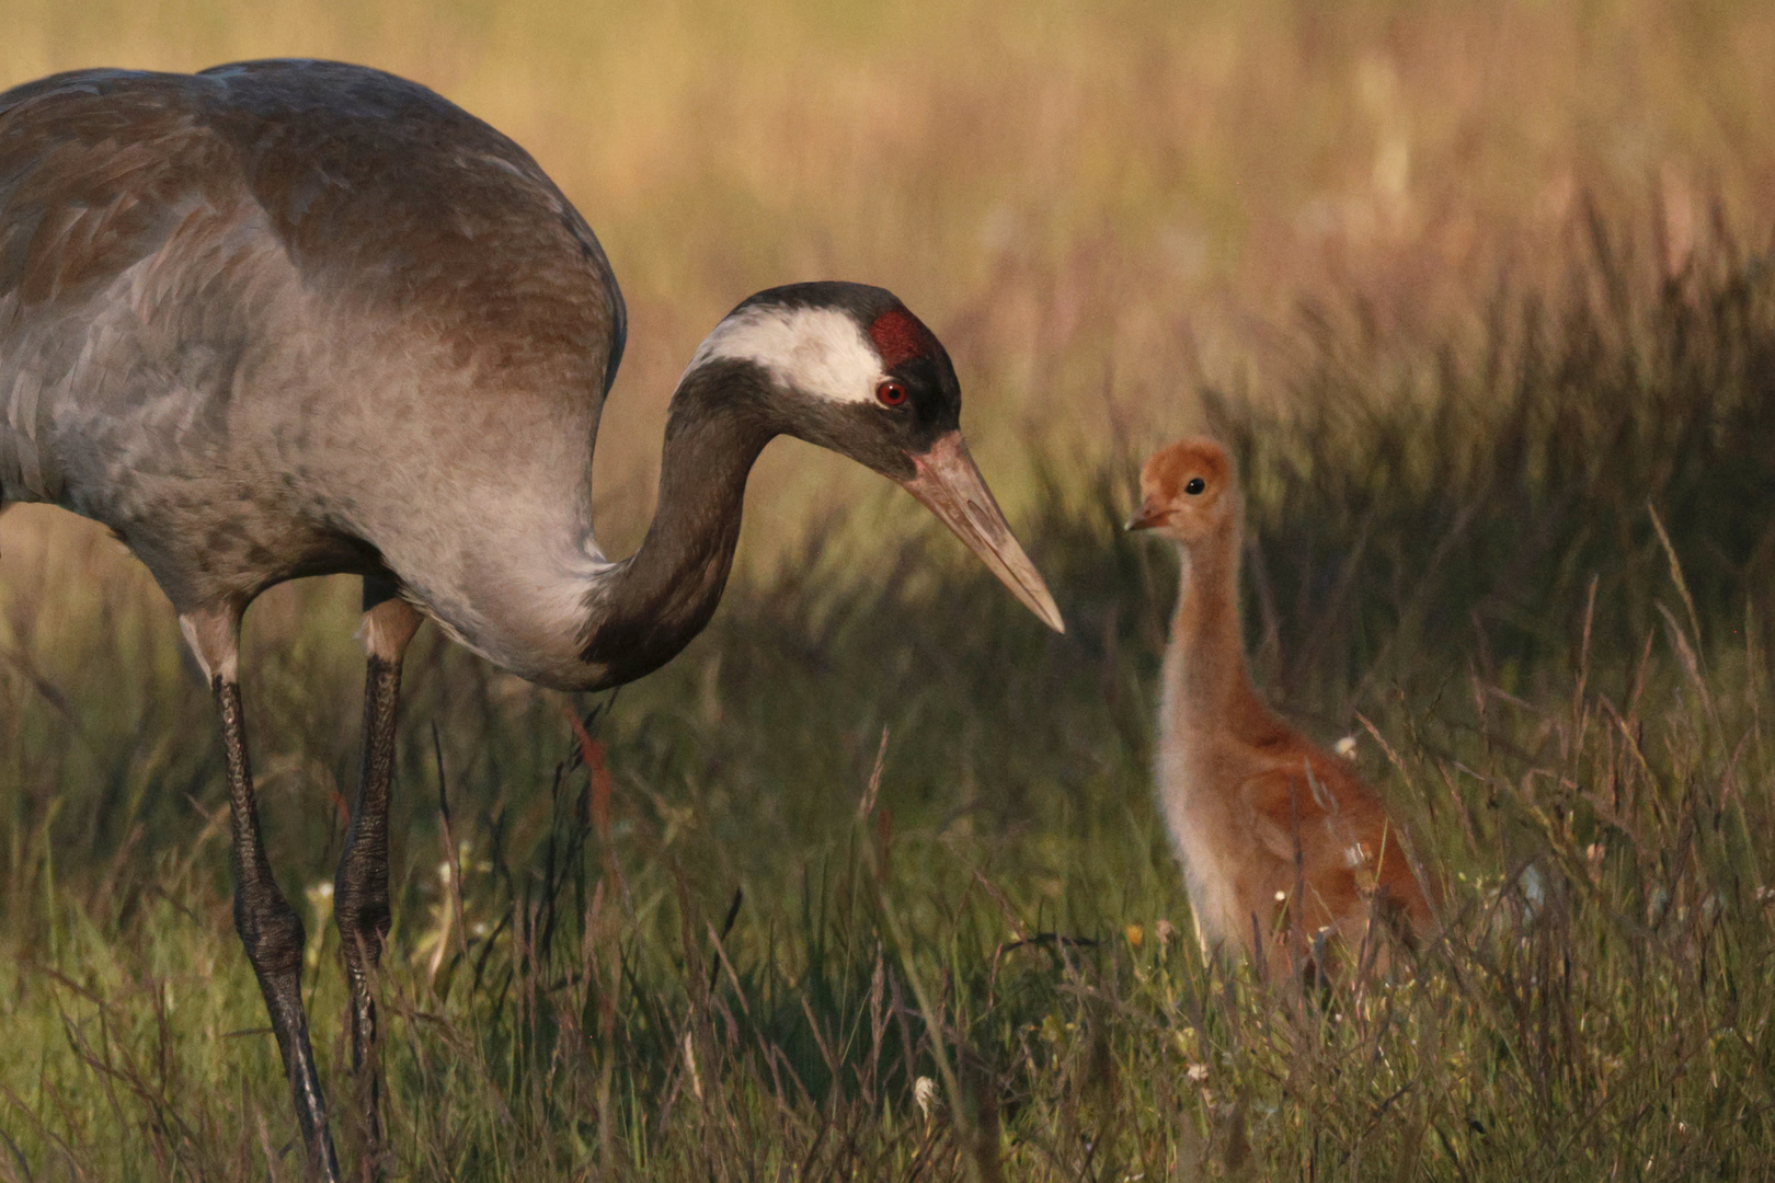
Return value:
<svg viewBox="0 0 1775 1183">
<path fill-rule="evenodd" d="M 740 365 L 685 374 L 660 458 L 660 498 L 641 550 L 593 592 L 580 658 L 614 686 L 648 674 L 703 631 L 740 541 L 746 477 L 777 435 L 761 378 Z"/>
</svg>

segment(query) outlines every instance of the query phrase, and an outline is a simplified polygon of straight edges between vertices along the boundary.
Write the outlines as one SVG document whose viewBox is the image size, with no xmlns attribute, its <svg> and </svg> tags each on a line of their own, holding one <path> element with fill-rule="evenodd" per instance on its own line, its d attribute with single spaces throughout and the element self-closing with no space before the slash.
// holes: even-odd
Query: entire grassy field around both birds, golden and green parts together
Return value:
<svg viewBox="0 0 1775 1183">
<path fill-rule="evenodd" d="M 531 145 L 635 310 L 616 548 L 726 307 L 888 282 L 1069 621 L 776 445 L 714 626 L 614 699 L 422 633 L 394 1178 L 1770 1178 L 1770 50 L 1759 5 L 1626 0 L 11 5 L 0 83 L 334 55 Z M 1258 679 L 1441 887 L 1399 983 L 1189 936 L 1175 562 L 1116 523 L 1195 429 L 1246 470 Z M 0 1179 L 298 1179 L 170 610 L 66 514 L 0 553 Z M 355 596 L 266 596 L 243 667 L 341 1100 Z"/>
</svg>

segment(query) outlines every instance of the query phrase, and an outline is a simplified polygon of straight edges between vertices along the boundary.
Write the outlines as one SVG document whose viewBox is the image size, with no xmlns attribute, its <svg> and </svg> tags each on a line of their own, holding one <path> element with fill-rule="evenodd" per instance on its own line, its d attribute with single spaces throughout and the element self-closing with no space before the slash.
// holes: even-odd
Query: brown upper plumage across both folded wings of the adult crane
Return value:
<svg viewBox="0 0 1775 1183">
<path fill-rule="evenodd" d="M 0 94 L 0 349 L 243 195 L 305 286 L 465 365 L 532 371 L 501 385 L 570 397 L 596 431 L 627 314 L 586 220 L 488 124 L 337 62 L 78 71 Z"/>
</svg>

